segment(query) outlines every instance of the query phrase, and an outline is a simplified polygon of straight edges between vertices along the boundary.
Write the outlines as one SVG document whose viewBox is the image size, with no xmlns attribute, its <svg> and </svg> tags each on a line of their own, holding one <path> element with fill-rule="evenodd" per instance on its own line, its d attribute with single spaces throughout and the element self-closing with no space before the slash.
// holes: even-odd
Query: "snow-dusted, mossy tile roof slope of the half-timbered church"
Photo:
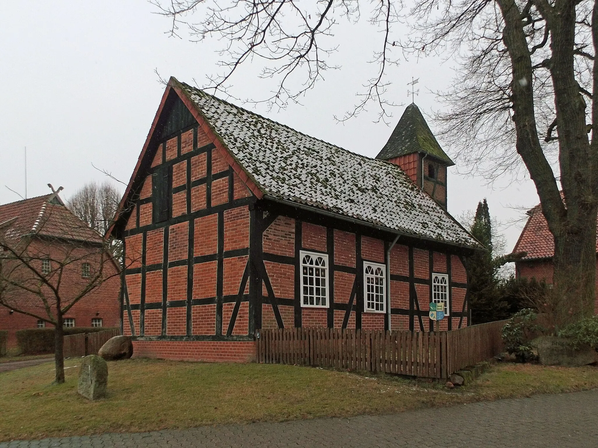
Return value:
<svg viewBox="0 0 598 448">
<path fill-rule="evenodd" d="M 480 244 L 389 162 L 355 154 L 181 83 L 265 195 L 394 231 Z"/>
</svg>

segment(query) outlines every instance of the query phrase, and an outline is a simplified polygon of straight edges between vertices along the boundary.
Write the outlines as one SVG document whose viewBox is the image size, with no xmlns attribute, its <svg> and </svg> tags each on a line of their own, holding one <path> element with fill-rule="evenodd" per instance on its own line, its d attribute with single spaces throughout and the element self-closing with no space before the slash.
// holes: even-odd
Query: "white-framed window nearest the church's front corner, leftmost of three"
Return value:
<svg viewBox="0 0 598 448">
<path fill-rule="evenodd" d="M 328 308 L 328 255 L 300 251 L 301 306 Z"/>
</svg>

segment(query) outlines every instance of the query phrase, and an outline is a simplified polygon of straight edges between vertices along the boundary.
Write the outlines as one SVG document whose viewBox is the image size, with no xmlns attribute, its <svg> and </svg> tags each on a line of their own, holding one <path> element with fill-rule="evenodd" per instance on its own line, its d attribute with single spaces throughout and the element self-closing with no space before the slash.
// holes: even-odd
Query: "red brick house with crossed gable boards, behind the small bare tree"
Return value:
<svg viewBox="0 0 598 448">
<path fill-rule="evenodd" d="M 62 265 L 60 291 L 65 297 L 71 297 L 71 293 L 77 293 L 89 284 L 88 279 L 101 263 L 97 261 L 98 250 L 105 247 L 102 237 L 65 207 L 56 193 L 0 205 L 0 232 L 2 237 L 12 235 L 16 240 L 31 237 L 27 253 L 35 257 L 33 266 L 44 274 L 56 274 L 60 269 L 56 260 L 61 263 L 62 260 L 73 259 L 72 263 L 63 262 Z M 0 250 L 0 262 L 1 256 Z M 102 263 L 102 268 L 106 277 L 111 278 L 69 309 L 65 315 L 65 326 L 120 326 L 120 275 L 112 259 Z M 52 300 L 51 294 L 48 297 Z M 45 314 L 41 300 L 32 293 L 19 290 L 11 300 L 16 300 L 11 303 L 19 305 L 24 311 Z M 46 325 L 35 317 L 0 307 L 0 330 L 8 330 L 9 348 L 16 346 L 17 330 Z"/>
</svg>

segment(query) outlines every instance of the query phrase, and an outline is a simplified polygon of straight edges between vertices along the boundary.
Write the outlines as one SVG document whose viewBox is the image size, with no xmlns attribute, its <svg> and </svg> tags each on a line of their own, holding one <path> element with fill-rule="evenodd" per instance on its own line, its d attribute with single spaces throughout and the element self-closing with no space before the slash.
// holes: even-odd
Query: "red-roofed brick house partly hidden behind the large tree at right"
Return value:
<svg viewBox="0 0 598 448">
<path fill-rule="evenodd" d="M 527 210 L 527 222 L 513 253 L 526 252 L 527 255 L 515 262 L 515 277 L 535 278 L 553 283 L 554 237 L 548 229 L 548 222 L 542 213 L 540 204 Z M 598 253 L 598 241 L 596 242 Z M 598 262 L 596 265 L 596 290 L 598 291 Z M 598 314 L 598 298 L 594 305 L 594 312 Z"/>
</svg>

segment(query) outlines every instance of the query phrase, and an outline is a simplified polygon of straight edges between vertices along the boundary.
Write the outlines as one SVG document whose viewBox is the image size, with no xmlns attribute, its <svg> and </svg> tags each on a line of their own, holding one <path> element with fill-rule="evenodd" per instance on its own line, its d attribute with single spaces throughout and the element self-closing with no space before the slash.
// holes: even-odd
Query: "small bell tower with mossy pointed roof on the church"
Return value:
<svg viewBox="0 0 598 448">
<path fill-rule="evenodd" d="M 438 144 L 422 112 L 411 103 L 377 159 L 401 167 L 413 183 L 447 208 L 447 168 L 454 162 Z"/>
</svg>

